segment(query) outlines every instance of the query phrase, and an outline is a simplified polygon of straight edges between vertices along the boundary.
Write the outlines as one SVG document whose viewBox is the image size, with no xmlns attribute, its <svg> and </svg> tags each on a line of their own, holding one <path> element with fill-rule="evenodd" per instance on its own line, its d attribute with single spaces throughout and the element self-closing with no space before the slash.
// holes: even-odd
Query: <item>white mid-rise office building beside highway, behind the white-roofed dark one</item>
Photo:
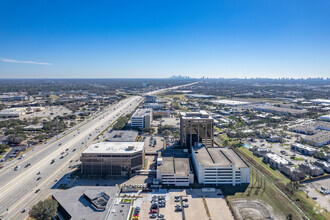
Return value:
<svg viewBox="0 0 330 220">
<path fill-rule="evenodd" d="M 152 109 L 137 109 L 131 117 L 131 126 L 136 128 L 150 128 L 152 122 Z"/>
</svg>

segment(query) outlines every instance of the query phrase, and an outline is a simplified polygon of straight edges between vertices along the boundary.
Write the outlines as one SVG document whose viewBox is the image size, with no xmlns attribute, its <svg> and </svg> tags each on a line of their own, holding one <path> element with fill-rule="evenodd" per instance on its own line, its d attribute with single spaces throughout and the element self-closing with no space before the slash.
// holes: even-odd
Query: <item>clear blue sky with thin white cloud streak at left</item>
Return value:
<svg viewBox="0 0 330 220">
<path fill-rule="evenodd" d="M 330 77 L 329 0 L 0 0 L 0 78 Z"/>
</svg>

